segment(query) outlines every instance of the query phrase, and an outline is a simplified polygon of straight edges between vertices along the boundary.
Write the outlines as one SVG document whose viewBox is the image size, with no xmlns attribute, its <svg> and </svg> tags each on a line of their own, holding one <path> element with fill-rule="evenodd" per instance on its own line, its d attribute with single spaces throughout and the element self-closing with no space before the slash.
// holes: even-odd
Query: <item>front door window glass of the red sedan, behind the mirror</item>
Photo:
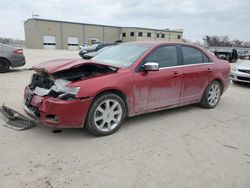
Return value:
<svg viewBox="0 0 250 188">
<path fill-rule="evenodd" d="M 176 46 L 157 48 L 146 58 L 146 62 L 159 63 L 160 68 L 178 65 Z"/>
</svg>

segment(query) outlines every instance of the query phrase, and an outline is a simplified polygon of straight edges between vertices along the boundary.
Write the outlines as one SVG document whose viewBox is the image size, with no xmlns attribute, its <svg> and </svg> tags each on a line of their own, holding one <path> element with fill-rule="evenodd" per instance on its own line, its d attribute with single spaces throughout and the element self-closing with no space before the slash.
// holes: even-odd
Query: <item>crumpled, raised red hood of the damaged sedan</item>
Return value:
<svg viewBox="0 0 250 188">
<path fill-rule="evenodd" d="M 74 67 L 79 67 L 86 64 L 97 64 L 102 66 L 111 66 L 115 68 L 119 68 L 113 65 L 105 65 L 102 63 L 83 60 L 83 59 L 56 59 L 52 61 L 46 61 L 44 63 L 40 63 L 38 65 L 33 66 L 33 69 L 37 72 L 44 71 L 48 74 L 53 74 L 58 71 L 67 70 Z"/>
</svg>

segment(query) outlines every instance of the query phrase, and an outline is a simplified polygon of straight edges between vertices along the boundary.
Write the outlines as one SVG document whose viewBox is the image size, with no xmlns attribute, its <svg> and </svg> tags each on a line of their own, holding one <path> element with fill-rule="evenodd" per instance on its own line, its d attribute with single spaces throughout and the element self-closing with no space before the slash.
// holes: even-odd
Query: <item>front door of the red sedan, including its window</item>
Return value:
<svg viewBox="0 0 250 188">
<path fill-rule="evenodd" d="M 177 105 L 182 82 L 178 50 L 175 45 L 161 46 L 149 54 L 142 63 L 159 63 L 159 71 L 135 73 L 134 100 L 136 113 L 154 111 Z"/>
</svg>

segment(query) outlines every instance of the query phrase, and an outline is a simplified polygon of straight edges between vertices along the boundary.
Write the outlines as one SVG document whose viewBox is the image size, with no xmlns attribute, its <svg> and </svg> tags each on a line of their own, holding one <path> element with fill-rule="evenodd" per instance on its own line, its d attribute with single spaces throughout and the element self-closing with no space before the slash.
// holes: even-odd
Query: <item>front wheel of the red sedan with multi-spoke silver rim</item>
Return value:
<svg viewBox="0 0 250 188">
<path fill-rule="evenodd" d="M 126 116 L 125 103 L 114 93 L 97 97 L 91 105 L 85 128 L 96 136 L 106 136 L 117 131 Z"/>
</svg>

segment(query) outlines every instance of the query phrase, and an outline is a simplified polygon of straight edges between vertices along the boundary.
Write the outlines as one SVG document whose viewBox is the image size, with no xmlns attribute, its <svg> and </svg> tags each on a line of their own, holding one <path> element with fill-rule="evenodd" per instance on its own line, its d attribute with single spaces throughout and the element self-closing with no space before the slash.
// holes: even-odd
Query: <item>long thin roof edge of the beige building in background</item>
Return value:
<svg viewBox="0 0 250 188">
<path fill-rule="evenodd" d="M 90 23 L 81 23 L 81 22 L 69 22 L 69 21 L 60 21 L 60 20 L 40 19 L 40 18 L 29 18 L 24 22 L 24 24 L 26 24 L 30 20 L 45 21 L 45 22 L 57 22 L 57 23 L 69 23 L 69 24 L 81 24 L 81 25 L 90 25 L 90 26 L 101 26 L 101 27 L 145 29 L 145 30 L 156 30 L 156 31 L 164 31 L 164 32 L 183 33 L 182 29 L 173 29 L 173 30 L 171 30 L 171 29 L 153 29 L 153 28 L 143 28 L 143 27 L 120 27 L 120 26 L 111 26 L 111 25 L 102 25 L 102 24 L 90 24 Z"/>
</svg>

